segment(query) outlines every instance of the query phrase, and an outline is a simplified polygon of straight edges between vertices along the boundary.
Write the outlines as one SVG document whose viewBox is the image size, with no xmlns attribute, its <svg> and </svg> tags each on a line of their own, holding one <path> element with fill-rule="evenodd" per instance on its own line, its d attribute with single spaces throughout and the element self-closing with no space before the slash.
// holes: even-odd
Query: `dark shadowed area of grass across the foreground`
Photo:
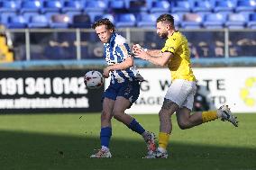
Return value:
<svg viewBox="0 0 256 170">
<path fill-rule="evenodd" d="M 99 139 L 0 131 L 0 169 L 256 169 L 256 149 L 171 144 L 168 159 L 142 159 L 143 141 L 113 138 L 112 159 L 91 159 Z"/>
</svg>

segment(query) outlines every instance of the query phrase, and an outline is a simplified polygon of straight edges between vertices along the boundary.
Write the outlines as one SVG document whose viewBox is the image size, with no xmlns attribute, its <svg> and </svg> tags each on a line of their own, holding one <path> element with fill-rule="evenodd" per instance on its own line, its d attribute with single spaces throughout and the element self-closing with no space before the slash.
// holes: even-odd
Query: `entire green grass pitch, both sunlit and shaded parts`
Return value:
<svg viewBox="0 0 256 170">
<path fill-rule="evenodd" d="M 99 148 L 99 113 L 0 116 L 0 169 L 3 170 L 256 170 L 256 114 L 237 114 L 229 122 L 211 121 L 179 130 L 172 117 L 168 159 L 142 159 L 142 138 L 113 120 L 111 159 L 89 158 Z M 158 115 L 134 115 L 158 134 Z"/>
</svg>

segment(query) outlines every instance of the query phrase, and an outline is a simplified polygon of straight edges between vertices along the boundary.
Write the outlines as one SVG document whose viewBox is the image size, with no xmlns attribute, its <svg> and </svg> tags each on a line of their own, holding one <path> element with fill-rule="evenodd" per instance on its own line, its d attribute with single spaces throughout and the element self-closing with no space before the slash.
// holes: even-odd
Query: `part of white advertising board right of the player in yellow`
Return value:
<svg viewBox="0 0 256 170">
<path fill-rule="evenodd" d="M 194 68 L 212 107 L 224 103 L 232 112 L 256 112 L 256 67 Z"/>
</svg>

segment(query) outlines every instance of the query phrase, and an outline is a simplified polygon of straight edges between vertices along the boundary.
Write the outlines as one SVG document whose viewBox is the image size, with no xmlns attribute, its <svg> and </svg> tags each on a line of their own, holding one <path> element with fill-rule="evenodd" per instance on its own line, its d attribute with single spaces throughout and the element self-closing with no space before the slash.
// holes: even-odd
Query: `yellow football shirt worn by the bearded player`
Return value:
<svg viewBox="0 0 256 170">
<path fill-rule="evenodd" d="M 171 73 L 171 79 L 185 79 L 196 81 L 190 63 L 190 51 L 188 49 L 187 39 L 179 31 L 175 31 L 166 40 L 161 52 L 171 52 L 174 57 L 169 59 L 168 67 Z"/>
</svg>

